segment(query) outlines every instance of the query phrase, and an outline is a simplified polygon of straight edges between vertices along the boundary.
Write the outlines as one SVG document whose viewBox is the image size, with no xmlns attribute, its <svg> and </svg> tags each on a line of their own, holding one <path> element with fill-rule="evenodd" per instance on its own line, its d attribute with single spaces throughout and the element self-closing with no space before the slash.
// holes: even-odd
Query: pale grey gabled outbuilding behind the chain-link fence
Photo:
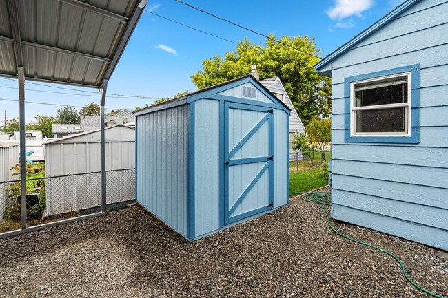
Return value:
<svg viewBox="0 0 448 298">
<path fill-rule="evenodd" d="M 79 211 L 101 202 L 101 131 L 57 138 L 45 146 L 45 216 Z M 135 130 L 124 125 L 105 129 L 106 171 L 135 167 Z M 108 204 L 133 200 L 134 171 L 108 172 Z M 92 173 L 94 172 L 94 173 Z M 85 175 L 78 175 L 83 174 Z M 77 174 L 77 175 L 73 175 Z"/>
</svg>

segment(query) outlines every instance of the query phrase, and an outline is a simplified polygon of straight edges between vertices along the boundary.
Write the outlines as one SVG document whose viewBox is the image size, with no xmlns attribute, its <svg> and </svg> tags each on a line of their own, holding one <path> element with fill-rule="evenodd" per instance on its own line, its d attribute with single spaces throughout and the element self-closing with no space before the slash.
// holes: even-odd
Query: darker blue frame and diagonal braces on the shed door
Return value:
<svg viewBox="0 0 448 298">
<path fill-rule="evenodd" d="M 239 148 L 236 149 L 236 151 L 234 151 L 232 149 L 232 151 L 234 151 L 234 152 L 229 152 L 229 136 L 228 136 L 228 134 L 229 134 L 229 109 L 231 109 L 231 108 L 247 109 L 250 111 L 263 111 L 263 112 L 267 113 L 266 116 L 264 116 L 263 119 L 257 123 L 256 129 L 251 129 L 250 133 L 248 133 L 248 134 L 250 134 L 250 136 L 253 136 L 253 134 L 261 127 L 261 125 L 263 125 L 263 123 L 265 123 L 265 121 L 268 121 L 268 125 L 269 125 L 268 156 L 230 160 L 230 158 L 232 158 L 234 153 L 236 153 L 236 151 L 238 151 L 238 149 L 240 149 L 245 144 L 245 142 L 247 142 L 247 140 L 250 139 L 250 136 L 248 138 L 246 138 L 246 136 L 248 135 L 247 134 L 243 138 L 243 139 L 245 139 L 244 142 L 242 142 L 242 140 L 240 142 L 238 142 L 238 145 L 236 147 L 239 147 Z M 224 118 L 224 125 L 223 125 L 223 127 L 224 127 L 224 134 L 223 134 L 224 135 L 224 138 L 223 138 L 224 160 L 221 163 L 221 166 L 223 167 L 223 175 L 224 175 L 224 179 L 223 179 L 223 182 L 224 182 L 223 183 L 223 189 L 224 189 L 223 224 L 227 225 L 227 224 L 231 224 L 232 222 L 241 220 L 245 217 L 250 217 L 257 213 L 261 213 L 263 211 L 267 211 L 267 210 L 273 208 L 273 202 L 274 202 L 274 110 L 270 109 L 269 107 L 244 105 L 241 103 L 224 102 L 223 114 L 224 114 L 223 115 L 223 118 Z M 232 155 L 231 155 L 231 153 L 232 153 Z M 261 171 L 257 173 L 254 180 L 252 180 L 252 182 L 250 182 L 250 184 L 246 187 L 246 189 L 243 191 L 243 193 L 239 196 L 238 200 L 236 200 L 236 202 L 234 203 L 234 206 L 232 206 L 232 208 L 231 208 L 230 204 L 229 204 L 229 167 L 232 167 L 232 165 L 236 165 L 236 164 L 247 164 L 247 163 L 252 163 L 252 162 L 266 162 L 266 164 L 261 169 Z M 267 206 L 263 206 L 261 208 L 255 209 L 255 210 L 251 210 L 251 211 L 245 212 L 243 214 L 230 217 L 232 212 L 241 203 L 243 198 L 245 198 L 247 193 L 250 192 L 252 187 L 254 187 L 256 182 L 258 182 L 258 180 L 261 178 L 261 175 L 263 175 L 263 173 L 265 173 L 265 171 L 268 171 L 268 173 L 269 173 L 269 185 L 268 185 L 269 200 L 268 200 Z"/>
</svg>

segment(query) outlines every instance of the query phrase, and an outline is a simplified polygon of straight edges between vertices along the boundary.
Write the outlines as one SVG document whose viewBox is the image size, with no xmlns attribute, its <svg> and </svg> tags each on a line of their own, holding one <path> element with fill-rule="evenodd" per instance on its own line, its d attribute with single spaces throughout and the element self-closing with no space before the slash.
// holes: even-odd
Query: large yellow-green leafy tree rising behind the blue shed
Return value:
<svg viewBox="0 0 448 298">
<path fill-rule="evenodd" d="M 273 35 L 270 37 L 276 39 Z M 329 78 L 314 70 L 319 58 L 309 54 L 318 56 L 320 53 L 314 39 L 309 36 L 283 36 L 280 41 L 303 52 L 270 39 L 263 46 L 244 39 L 232 52 L 226 52 L 223 58 L 213 56 L 203 61 L 203 70 L 191 76 L 193 83 L 199 89 L 210 87 L 248 74 L 251 65 L 256 65 L 260 79 L 280 76 L 305 126 L 313 118 L 329 116 L 332 86 Z"/>
</svg>

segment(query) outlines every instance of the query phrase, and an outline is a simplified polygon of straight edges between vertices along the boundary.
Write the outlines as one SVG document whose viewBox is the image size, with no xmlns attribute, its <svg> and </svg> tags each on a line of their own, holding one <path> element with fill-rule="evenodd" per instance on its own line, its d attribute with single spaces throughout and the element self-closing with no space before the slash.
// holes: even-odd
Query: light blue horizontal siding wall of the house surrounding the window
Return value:
<svg viewBox="0 0 448 298">
<path fill-rule="evenodd" d="M 447 18 L 446 1 L 420 1 L 331 65 L 332 217 L 445 250 Z M 420 142 L 345 142 L 344 79 L 412 64 L 420 64 Z"/>
</svg>

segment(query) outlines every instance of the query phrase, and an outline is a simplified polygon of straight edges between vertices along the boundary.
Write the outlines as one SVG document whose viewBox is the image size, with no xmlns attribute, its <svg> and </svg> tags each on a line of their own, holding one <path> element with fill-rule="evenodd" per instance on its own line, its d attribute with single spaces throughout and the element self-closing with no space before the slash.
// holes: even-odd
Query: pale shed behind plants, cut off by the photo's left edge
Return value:
<svg viewBox="0 0 448 298">
<path fill-rule="evenodd" d="M 3 220 L 5 208 L 10 206 L 6 189 L 11 184 L 1 183 L 4 181 L 17 180 L 12 174 L 11 168 L 19 163 L 19 144 L 15 142 L 0 141 L 0 220 Z"/>
</svg>

